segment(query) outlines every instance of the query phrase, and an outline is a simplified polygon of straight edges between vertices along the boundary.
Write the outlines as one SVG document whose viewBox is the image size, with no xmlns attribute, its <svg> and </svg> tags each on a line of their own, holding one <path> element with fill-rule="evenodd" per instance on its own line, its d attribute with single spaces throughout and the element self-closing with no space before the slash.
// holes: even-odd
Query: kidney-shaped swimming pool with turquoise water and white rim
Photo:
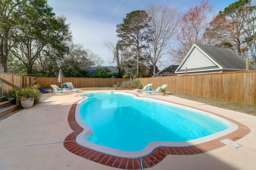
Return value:
<svg viewBox="0 0 256 170">
<path fill-rule="evenodd" d="M 191 146 L 224 136 L 238 128 L 210 113 L 156 99 L 138 98 L 128 93 L 86 96 L 76 108 L 76 121 L 84 128 L 76 142 L 116 156 L 134 158 L 148 154 L 159 146 Z M 155 104 L 160 107 L 155 109 Z M 186 124 L 189 126 L 184 127 Z"/>
</svg>

